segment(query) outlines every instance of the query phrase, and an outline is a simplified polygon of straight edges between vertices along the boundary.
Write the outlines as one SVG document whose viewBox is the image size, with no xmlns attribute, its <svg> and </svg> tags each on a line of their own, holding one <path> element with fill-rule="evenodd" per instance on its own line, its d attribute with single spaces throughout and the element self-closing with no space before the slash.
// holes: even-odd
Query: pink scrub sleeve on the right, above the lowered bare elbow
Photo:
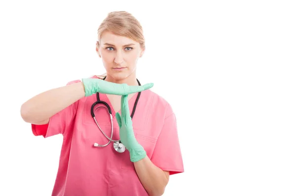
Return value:
<svg viewBox="0 0 296 196">
<path fill-rule="evenodd" d="M 151 162 L 170 175 L 184 172 L 175 113 L 167 107 L 162 130 L 158 136 Z"/>
</svg>

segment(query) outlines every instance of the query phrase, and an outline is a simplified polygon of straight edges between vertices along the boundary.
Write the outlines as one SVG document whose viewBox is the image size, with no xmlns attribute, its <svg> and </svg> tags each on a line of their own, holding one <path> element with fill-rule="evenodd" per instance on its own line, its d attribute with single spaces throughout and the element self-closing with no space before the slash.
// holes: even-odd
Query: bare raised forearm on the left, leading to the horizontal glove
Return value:
<svg viewBox="0 0 296 196">
<path fill-rule="evenodd" d="M 51 89 L 23 103 L 21 116 L 28 123 L 44 121 L 84 96 L 82 82 Z"/>
</svg>

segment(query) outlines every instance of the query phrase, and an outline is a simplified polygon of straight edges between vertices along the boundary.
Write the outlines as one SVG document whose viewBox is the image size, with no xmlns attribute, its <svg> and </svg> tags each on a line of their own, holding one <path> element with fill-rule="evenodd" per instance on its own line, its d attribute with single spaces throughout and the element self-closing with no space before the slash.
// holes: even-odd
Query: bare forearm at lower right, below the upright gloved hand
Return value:
<svg viewBox="0 0 296 196">
<path fill-rule="evenodd" d="M 169 181 L 168 172 L 154 165 L 147 156 L 138 162 L 134 162 L 134 165 L 137 175 L 149 196 L 163 195 Z"/>
</svg>

